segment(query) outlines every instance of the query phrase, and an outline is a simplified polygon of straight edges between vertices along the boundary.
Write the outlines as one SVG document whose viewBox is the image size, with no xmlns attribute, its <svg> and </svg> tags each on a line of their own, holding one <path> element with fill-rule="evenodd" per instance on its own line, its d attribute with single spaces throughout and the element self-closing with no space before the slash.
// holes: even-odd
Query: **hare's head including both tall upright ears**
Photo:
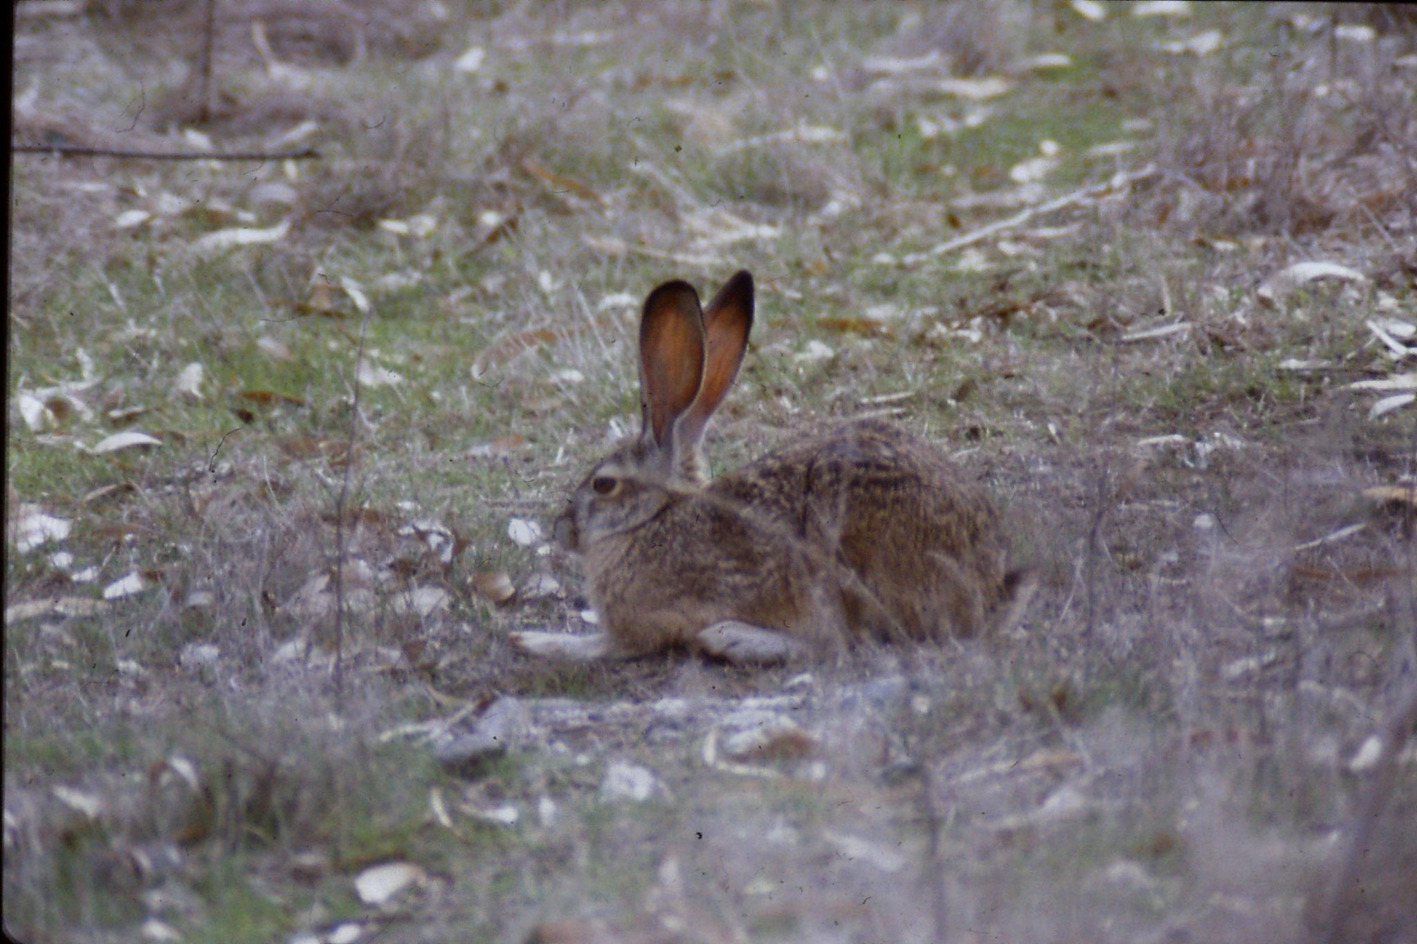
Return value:
<svg viewBox="0 0 1417 944">
<path fill-rule="evenodd" d="M 585 551 L 707 481 L 704 429 L 738 375 L 751 330 L 747 272 L 728 279 L 707 309 L 687 282 L 649 293 L 639 321 L 639 436 L 616 446 L 571 493 L 555 521 L 557 543 Z"/>
</svg>

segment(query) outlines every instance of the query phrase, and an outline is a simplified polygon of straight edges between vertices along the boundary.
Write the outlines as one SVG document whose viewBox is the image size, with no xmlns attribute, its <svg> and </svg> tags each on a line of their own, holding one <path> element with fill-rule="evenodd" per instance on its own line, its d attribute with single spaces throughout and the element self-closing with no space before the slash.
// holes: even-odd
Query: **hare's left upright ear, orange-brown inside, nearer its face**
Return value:
<svg viewBox="0 0 1417 944">
<path fill-rule="evenodd" d="M 645 299 L 639 320 L 639 406 L 642 434 L 670 449 L 674 420 L 689 409 L 704 379 L 704 323 L 699 293 L 687 282 L 666 282 Z"/>
</svg>

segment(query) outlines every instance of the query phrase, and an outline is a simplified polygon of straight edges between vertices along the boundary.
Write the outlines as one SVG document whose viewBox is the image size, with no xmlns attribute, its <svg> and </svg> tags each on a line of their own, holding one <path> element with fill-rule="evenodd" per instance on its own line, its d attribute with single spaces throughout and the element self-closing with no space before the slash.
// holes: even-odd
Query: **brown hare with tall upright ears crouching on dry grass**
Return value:
<svg viewBox="0 0 1417 944">
<path fill-rule="evenodd" d="M 988 494 L 886 422 L 707 481 L 704 427 L 751 328 L 747 272 L 707 309 L 686 282 L 645 300 L 640 434 L 595 464 L 555 522 L 602 630 L 516 633 L 517 648 L 585 661 L 686 645 L 762 662 L 862 635 L 971 635 L 1022 609 Z"/>
</svg>

